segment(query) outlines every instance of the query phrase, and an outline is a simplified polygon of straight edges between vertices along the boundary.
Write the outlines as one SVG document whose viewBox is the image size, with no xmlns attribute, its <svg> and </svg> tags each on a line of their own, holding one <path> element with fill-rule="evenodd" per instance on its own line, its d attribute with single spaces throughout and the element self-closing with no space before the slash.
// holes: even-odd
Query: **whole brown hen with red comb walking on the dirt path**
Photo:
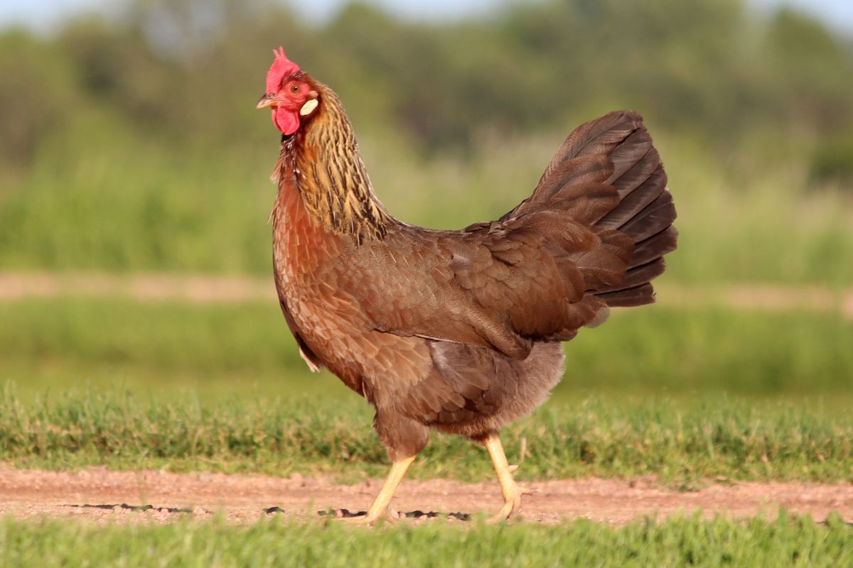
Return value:
<svg viewBox="0 0 853 568">
<path fill-rule="evenodd" d="M 520 507 L 498 431 L 560 381 L 560 341 L 610 307 L 654 301 L 676 209 L 635 112 L 566 139 L 531 197 L 497 221 L 433 231 L 380 204 L 338 96 L 283 49 L 258 108 L 281 130 L 273 258 L 281 310 L 312 370 L 376 410 L 391 472 L 363 521 L 386 514 L 431 428 L 484 445 Z"/>
</svg>

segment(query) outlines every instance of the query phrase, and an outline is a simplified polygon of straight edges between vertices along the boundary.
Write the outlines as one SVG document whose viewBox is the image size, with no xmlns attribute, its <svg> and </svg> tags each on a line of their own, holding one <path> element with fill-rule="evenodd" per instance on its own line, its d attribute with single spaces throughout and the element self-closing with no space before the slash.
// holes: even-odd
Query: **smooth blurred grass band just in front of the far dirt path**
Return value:
<svg viewBox="0 0 853 568">
<path fill-rule="evenodd" d="M 838 314 L 659 305 L 618 311 L 566 343 L 557 401 L 590 394 L 853 401 L 853 322 Z M 20 396 L 120 387 L 160 399 L 355 395 L 312 376 L 269 302 L 192 305 L 116 298 L 0 302 L 0 380 Z"/>
</svg>

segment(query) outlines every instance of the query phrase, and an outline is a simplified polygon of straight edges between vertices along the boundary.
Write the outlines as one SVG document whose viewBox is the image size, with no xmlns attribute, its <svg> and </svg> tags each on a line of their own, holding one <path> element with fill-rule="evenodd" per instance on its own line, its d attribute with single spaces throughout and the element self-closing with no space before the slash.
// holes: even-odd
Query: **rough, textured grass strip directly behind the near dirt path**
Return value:
<svg viewBox="0 0 853 568">
<path fill-rule="evenodd" d="M 139 400 L 67 393 L 22 403 L 0 399 L 0 461 L 20 468 L 169 468 L 300 473 L 386 472 L 372 412 L 355 398 Z M 504 429 L 521 479 L 654 474 L 676 485 L 703 479 L 853 481 L 853 417 L 820 407 L 727 399 L 650 399 L 546 405 Z M 485 453 L 459 436 L 434 435 L 415 477 L 489 479 Z"/>
</svg>

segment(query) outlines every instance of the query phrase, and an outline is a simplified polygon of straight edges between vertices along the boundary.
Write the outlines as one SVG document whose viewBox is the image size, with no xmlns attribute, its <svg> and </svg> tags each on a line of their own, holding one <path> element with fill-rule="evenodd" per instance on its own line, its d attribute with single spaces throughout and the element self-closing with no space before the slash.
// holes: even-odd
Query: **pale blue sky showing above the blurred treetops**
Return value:
<svg viewBox="0 0 853 568">
<path fill-rule="evenodd" d="M 524 0 L 368 0 L 399 14 L 414 18 L 456 17 L 476 14 L 495 5 Z M 853 0 L 749 0 L 759 9 L 790 4 L 805 12 L 815 14 L 831 26 L 853 33 Z M 311 18 L 322 20 L 345 0 L 310 0 L 292 2 L 295 8 Z M 0 28 L 13 23 L 23 23 L 38 29 L 49 30 L 68 14 L 81 10 L 103 9 L 108 0 L 0 0 Z"/>
</svg>

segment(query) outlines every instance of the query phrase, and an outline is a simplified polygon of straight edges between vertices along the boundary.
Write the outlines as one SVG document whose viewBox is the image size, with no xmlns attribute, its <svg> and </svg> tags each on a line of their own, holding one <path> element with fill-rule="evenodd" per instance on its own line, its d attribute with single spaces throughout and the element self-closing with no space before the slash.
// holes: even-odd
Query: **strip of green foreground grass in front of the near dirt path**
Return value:
<svg viewBox="0 0 853 568">
<path fill-rule="evenodd" d="M 817 525 L 784 512 L 773 520 L 699 515 L 613 527 L 386 525 L 339 522 L 252 525 L 223 521 L 97 526 L 0 520 L 7 566 L 845 566 L 853 529 L 837 516 Z"/>
</svg>

